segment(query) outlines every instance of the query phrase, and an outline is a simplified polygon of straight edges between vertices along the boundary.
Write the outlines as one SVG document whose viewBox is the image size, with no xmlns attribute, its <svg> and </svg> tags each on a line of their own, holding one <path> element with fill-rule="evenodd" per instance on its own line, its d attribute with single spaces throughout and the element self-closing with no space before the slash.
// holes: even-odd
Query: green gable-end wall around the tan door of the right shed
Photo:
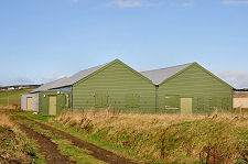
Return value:
<svg viewBox="0 0 248 164">
<path fill-rule="evenodd" d="M 171 97 L 171 102 L 165 99 Z M 193 64 L 158 88 L 159 112 L 180 112 L 180 98 L 193 98 L 193 113 L 209 113 L 214 107 L 233 109 L 233 88 Z M 179 109 L 166 109 L 168 103 Z"/>
</svg>

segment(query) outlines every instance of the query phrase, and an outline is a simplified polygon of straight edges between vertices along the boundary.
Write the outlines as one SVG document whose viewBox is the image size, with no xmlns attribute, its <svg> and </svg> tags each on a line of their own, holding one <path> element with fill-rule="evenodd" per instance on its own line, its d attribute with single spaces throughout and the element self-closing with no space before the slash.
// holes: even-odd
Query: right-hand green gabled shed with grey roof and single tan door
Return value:
<svg viewBox="0 0 248 164">
<path fill-rule="evenodd" d="M 157 111 L 209 113 L 233 109 L 233 87 L 197 63 L 142 72 L 157 86 Z"/>
</svg>

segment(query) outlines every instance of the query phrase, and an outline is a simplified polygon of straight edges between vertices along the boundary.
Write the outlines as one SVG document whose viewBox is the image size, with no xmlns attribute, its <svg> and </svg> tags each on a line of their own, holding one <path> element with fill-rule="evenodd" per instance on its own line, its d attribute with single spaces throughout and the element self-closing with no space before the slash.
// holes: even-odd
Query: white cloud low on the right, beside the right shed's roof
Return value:
<svg viewBox="0 0 248 164">
<path fill-rule="evenodd" d="M 220 70 L 218 76 L 235 88 L 248 88 L 247 70 Z"/>
</svg>

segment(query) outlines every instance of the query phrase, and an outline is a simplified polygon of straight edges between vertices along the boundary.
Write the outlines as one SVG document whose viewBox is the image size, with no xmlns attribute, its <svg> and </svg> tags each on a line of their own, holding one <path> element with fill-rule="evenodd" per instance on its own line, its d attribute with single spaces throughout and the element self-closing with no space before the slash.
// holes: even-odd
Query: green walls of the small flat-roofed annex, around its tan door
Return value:
<svg viewBox="0 0 248 164">
<path fill-rule="evenodd" d="M 57 91 L 41 91 L 39 95 L 39 114 L 48 116 L 50 96 L 56 96 L 56 113 L 57 114 L 60 114 L 64 108 L 69 108 L 69 101 L 68 101 L 68 106 L 67 107 L 65 106 L 66 99 L 65 99 L 64 92 L 57 94 Z"/>
</svg>

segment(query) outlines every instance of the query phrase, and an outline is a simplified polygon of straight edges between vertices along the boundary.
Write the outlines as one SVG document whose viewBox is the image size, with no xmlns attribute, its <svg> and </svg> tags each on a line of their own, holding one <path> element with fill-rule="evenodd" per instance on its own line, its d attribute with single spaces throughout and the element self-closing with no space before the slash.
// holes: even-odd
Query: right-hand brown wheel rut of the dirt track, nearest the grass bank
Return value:
<svg viewBox="0 0 248 164">
<path fill-rule="evenodd" d="M 100 160 L 100 161 L 104 161 L 104 162 L 107 162 L 109 164 L 136 164 L 136 162 L 129 160 L 129 158 L 126 158 L 126 157 L 122 157 L 120 155 L 117 155 L 110 151 L 107 151 L 107 150 L 104 150 L 97 145 L 94 145 L 91 143 L 87 143 L 87 142 L 84 142 L 82 141 L 80 139 L 77 139 L 76 136 L 73 136 L 64 131 L 61 131 L 58 129 L 55 129 L 53 127 L 50 127 L 47 124 L 44 124 L 44 123 L 41 123 L 41 122 L 37 122 L 37 121 L 34 121 L 32 119 L 29 119 L 26 117 L 21 117 L 21 116 L 17 116 L 17 117 L 20 117 L 22 119 L 25 119 L 25 120 L 29 120 L 29 121 L 33 121 L 35 124 L 39 124 L 42 129 L 45 129 L 45 130 L 48 130 L 53 133 L 58 133 L 62 138 L 71 141 L 73 143 L 73 145 L 75 146 L 78 146 L 78 147 L 83 147 L 83 149 L 86 149 L 88 151 L 91 151 L 93 153 L 90 153 L 89 155 L 94 156 L 95 158 L 97 160 Z M 31 129 L 32 130 L 32 129 Z M 28 130 L 29 132 L 30 130 Z M 40 134 L 40 133 L 37 133 Z M 42 134 L 40 134 L 42 135 Z M 48 140 L 51 142 L 51 140 L 47 138 L 47 136 L 40 136 L 39 138 L 44 138 L 44 140 Z M 43 139 L 41 139 L 42 141 Z M 40 143 L 39 143 L 40 144 Z M 44 144 L 44 142 L 41 142 L 41 144 Z M 51 144 L 51 143 L 47 143 L 47 144 Z M 56 144 L 55 143 L 52 143 L 53 147 L 46 147 L 46 149 L 57 149 Z M 54 145 L 55 144 L 55 145 Z M 44 145 L 45 146 L 45 145 Z M 58 152 L 60 153 L 60 152 Z M 55 155 L 55 154 L 54 154 Z M 56 155 L 55 155 L 56 156 Z M 60 156 L 60 155 L 58 155 Z M 65 162 L 65 161 L 64 161 Z M 71 162 L 72 163 L 72 162 Z"/>
</svg>

